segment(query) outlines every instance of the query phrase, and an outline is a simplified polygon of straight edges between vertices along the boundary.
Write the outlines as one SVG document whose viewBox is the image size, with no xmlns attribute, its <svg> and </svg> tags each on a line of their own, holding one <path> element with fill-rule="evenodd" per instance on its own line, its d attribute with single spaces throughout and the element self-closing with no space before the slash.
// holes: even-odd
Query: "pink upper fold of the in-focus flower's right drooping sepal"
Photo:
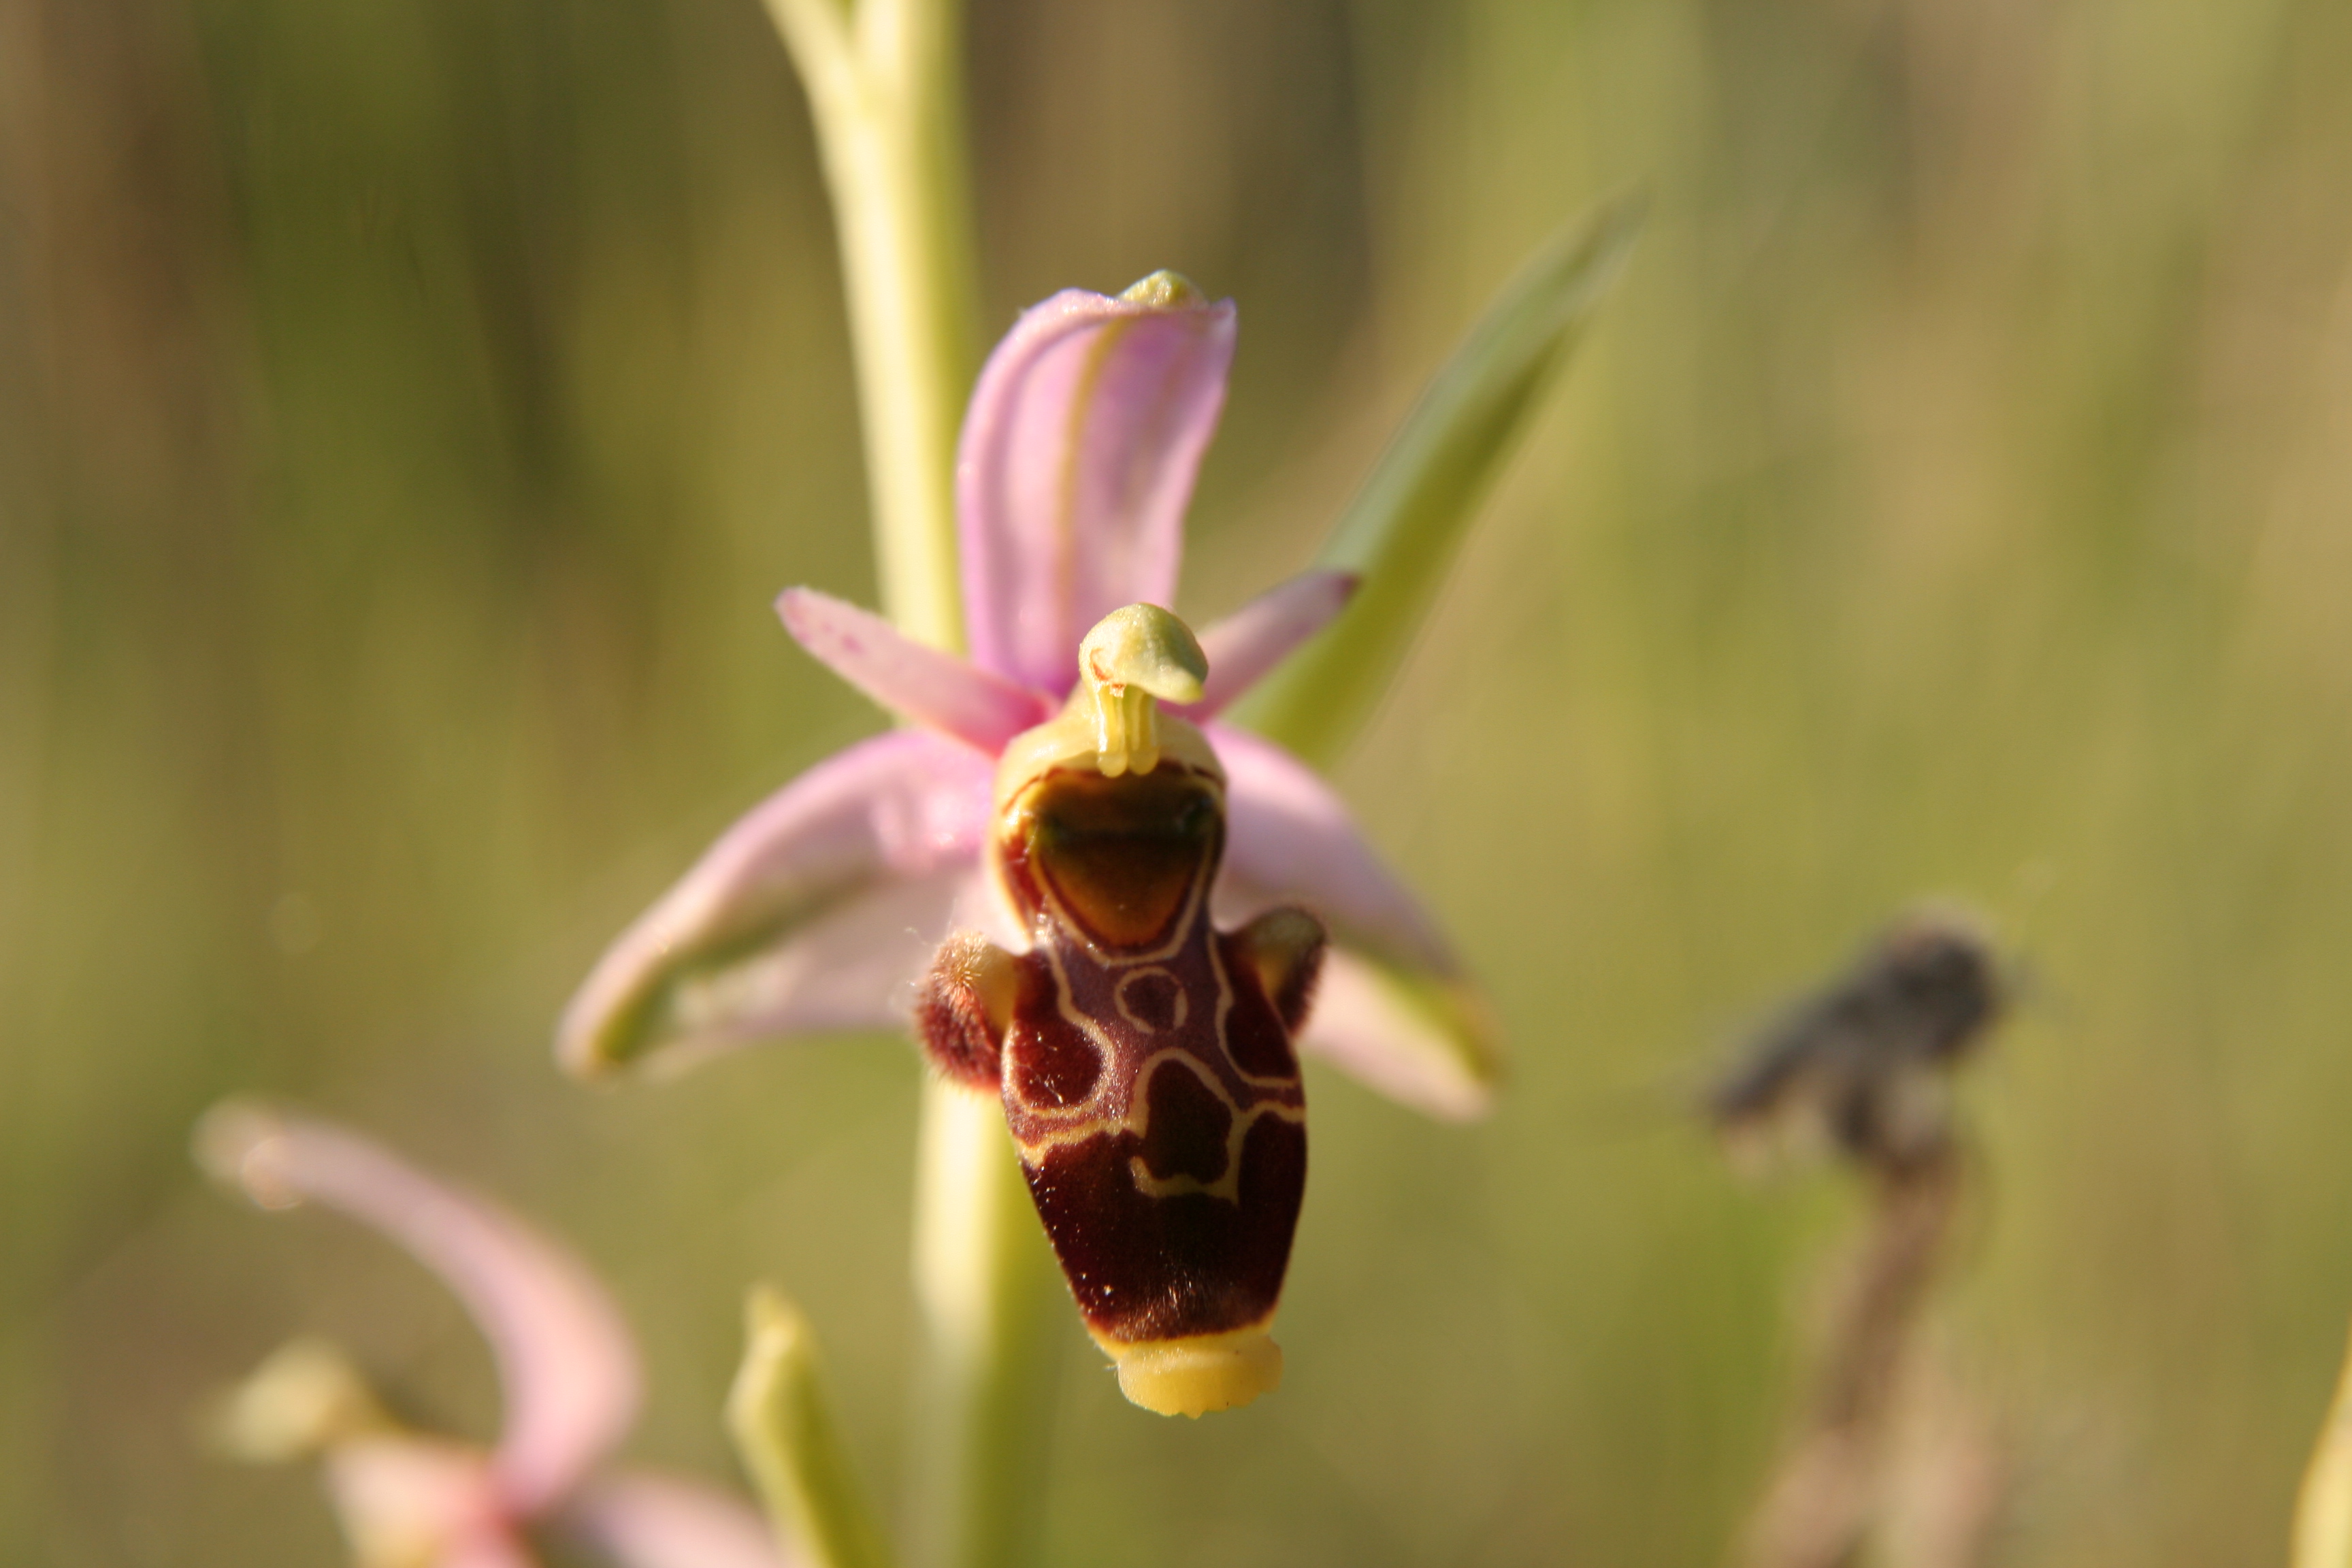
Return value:
<svg viewBox="0 0 2352 1568">
<path fill-rule="evenodd" d="M 1451 976 L 1454 954 L 1421 903 L 1381 865 L 1348 806 L 1303 762 L 1244 729 L 1209 729 L 1225 764 L 1225 870 L 1218 919 L 1249 919 L 1301 903 L 1331 938 L 1430 973 Z"/>
</svg>

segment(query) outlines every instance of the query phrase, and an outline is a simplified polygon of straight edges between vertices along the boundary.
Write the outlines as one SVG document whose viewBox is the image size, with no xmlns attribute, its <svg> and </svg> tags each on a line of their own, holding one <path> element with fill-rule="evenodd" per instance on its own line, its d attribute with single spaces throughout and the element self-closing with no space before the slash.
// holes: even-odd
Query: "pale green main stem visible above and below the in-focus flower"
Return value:
<svg viewBox="0 0 2352 1568">
<path fill-rule="evenodd" d="M 960 0 L 767 0 L 840 228 L 882 609 L 962 649 L 955 435 L 976 374 Z M 1035 1516 L 1051 1269 L 1000 1110 L 927 1084 L 917 1133 L 910 1561 L 1004 1568 Z"/>
</svg>

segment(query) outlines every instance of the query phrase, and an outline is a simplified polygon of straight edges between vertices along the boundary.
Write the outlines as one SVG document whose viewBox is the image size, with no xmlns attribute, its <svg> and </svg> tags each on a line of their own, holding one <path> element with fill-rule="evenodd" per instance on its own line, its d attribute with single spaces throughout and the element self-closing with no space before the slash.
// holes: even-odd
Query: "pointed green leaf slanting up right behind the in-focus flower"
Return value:
<svg viewBox="0 0 2352 1568">
<path fill-rule="evenodd" d="M 1355 599 L 1235 708 L 1240 724 L 1308 762 L 1329 762 L 1364 724 L 1639 223 L 1639 197 L 1576 219 L 1486 306 L 1315 557 L 1359 574 Z"/>
</svg>

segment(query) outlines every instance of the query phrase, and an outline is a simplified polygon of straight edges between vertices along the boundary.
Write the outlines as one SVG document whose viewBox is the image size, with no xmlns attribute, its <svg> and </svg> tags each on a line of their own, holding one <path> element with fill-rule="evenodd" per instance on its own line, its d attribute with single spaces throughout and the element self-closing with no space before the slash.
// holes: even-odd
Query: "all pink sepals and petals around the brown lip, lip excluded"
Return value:
<svg viewBox="0 0 2352 1568">
<path fill-rule="evenodd" d="M 809 588 L 776 602 L 800 644 L 910 724 L 821 762 L 736 823 L 604 954 L 557 1051 L 583 1074 L 816 1030 L 903 1027 L 950 926 L 1023 945 L 981 877 L 995 757 L 1077 682 L 1108 611 L 1169 604 L 1192 477 L 1225 402 L 1232 301 L 1171 273 L 1028 310 L 981 371 L 957 451 L 971 656 L 913 642 Z M 1298 1044 L 1439 1117 L 1484 1110 L 1484 1011 L 1348 809 L 1282 748 L 1216 722 L 1336 616 L 1312 571 L 1200 637 L 1200 703 L 1228 776 L 1218 924 L 1305 905 L 1334 947 Z"/>
</svg>

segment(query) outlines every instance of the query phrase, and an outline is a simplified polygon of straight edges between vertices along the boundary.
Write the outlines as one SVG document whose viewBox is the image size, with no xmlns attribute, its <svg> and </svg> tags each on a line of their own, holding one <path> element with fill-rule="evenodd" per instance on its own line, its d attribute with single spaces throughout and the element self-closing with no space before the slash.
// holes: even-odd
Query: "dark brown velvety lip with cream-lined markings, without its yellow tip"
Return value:
<svg viewBox="0 0 2352 1568">
<path fill-rule="evenodd" d="M 1305 1093 L 1247 938 L 1209 924 L 1221 780 L 1058 769 L 1000 832 L 1033 929 L 1004 1117 L 1087 1326 L 1117 1345 L 1263 1326 L 1305 1194 Z"/>
</svg>

